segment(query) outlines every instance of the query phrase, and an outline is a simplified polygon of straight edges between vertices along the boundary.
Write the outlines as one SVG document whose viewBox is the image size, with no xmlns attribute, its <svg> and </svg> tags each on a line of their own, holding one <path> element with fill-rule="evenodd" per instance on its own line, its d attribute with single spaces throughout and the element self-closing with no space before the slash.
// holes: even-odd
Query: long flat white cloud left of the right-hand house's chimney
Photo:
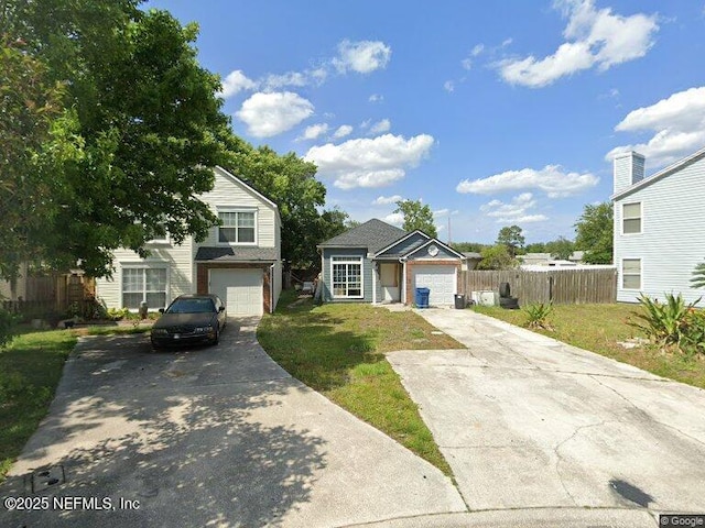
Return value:
<svg viewBox="0 0 705 528">
<path fill-rule="evenodd" d="M 566 173 L 560 165 L 546 165 L 540 170 L 522 168 L 521 170 L 507 170 L 487 178 L 465 179 L 457 185 L 455 190 L 462 194 L 490 195 L 508 190 L 540 189 L 549 198 L 562 198 L 583 193 L 595 187 L 598 182 L 599 178 L 590 173 Z"/>
</svg>

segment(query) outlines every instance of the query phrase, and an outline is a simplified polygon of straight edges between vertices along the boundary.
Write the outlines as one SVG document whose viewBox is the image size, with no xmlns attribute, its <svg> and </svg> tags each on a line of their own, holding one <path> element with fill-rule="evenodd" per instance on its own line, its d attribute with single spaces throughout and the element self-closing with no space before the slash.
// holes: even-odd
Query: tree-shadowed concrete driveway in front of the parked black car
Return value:
<svg viewBox="0 0 705 528">
<path fill-rule="evenodd" d="M 178 352 L 82 339 L 0 485 L 39 510 L 6 503 L 0 526 L 336 527 L 466 510 L 438 470 L 281 370 L 257 322 Z"/>
</svg>

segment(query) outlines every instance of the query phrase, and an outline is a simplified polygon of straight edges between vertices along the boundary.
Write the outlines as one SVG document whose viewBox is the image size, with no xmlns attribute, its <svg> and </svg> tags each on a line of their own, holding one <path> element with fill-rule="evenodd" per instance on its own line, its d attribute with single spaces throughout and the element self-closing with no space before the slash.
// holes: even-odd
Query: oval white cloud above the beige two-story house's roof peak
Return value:
<svg viewBox="0 0 705 528">
<path fill-rule="evenodd" d="M 291 130 L 313 114 L 313 105 L 291 91 L 253 94 L 247 99 L 237 118 L 248 127 L 254 138 L 271 138 Z"/>
</svg>

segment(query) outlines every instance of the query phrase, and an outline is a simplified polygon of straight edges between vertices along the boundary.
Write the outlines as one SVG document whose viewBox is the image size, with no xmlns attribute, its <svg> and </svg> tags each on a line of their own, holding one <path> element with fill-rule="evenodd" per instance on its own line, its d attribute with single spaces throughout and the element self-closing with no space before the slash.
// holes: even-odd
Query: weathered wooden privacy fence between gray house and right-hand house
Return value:
<svg viewBox="0 0 705 528">
<path fill-rule="evenodd" d="M 460 272 L 458 289 L 470 298 L 471 292 L 498 292 L 500 283 L 509 283 L 519 305 L 553 301 L 554 305 L 616 302 L 617 270 L 551 270 L 534 272 Z"/>
</svg>

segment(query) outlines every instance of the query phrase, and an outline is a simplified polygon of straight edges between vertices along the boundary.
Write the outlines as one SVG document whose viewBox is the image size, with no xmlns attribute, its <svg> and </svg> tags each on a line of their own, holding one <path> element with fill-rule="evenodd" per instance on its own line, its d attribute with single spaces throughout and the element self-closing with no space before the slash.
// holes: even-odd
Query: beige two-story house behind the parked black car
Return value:
<svg viewBox="0 0 705 528">
<path fill-rule="evenodd" d="M 112 278 L 96 280 L 96 297 L 108 308 L 150 310 L 182 294 L 218 295 L 229 316 L 272 312 L 281 294 L 281 219 L 270 199 L 221 167 L 214 188 L 200 198 L 221 224 L 206 240 L 173 244 L 169 235 L 148 243 L 141 258 L 130 250 L 115 254 Z"/>
</svg>

